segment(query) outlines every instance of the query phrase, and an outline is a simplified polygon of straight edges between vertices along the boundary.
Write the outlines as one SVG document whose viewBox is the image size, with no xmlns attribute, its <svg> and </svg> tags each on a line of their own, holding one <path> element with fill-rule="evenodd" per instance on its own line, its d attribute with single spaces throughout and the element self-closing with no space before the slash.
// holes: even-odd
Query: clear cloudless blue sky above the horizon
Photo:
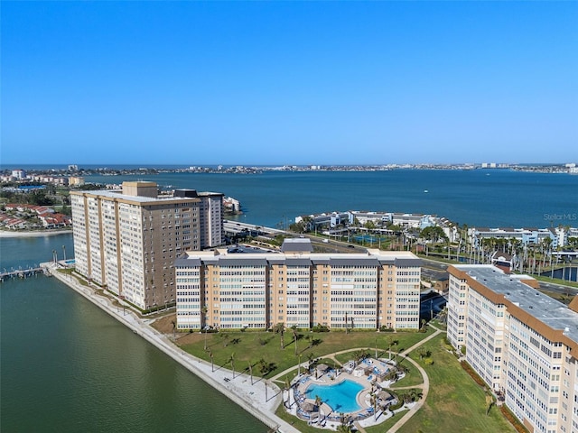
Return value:
<svg viewBox="0 0 578 433">
<path fill-rule="evenodd" d="M 578 162 L 578 2 L 0 5 L 3 165 Z"/>
</svg>

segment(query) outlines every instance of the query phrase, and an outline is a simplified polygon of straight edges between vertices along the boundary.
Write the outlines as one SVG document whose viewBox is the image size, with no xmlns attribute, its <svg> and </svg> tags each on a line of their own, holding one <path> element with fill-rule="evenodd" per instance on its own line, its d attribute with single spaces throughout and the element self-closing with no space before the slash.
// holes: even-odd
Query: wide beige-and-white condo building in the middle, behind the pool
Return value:
<svg viewBox="0 0 578 433">
<path fill-rule="evenodd" d="M 175 261 L 179 329 L 417 329 L 419 259 L 409 252 L 312 253 L 285 239 L 281 253 L 186 252 Z"/>
</svg>

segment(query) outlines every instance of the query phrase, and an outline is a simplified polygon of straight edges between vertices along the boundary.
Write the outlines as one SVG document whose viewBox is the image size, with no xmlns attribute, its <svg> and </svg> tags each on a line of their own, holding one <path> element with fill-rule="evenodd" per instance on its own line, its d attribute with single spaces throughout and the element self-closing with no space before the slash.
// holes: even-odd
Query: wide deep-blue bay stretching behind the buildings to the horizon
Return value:
<svg viewBox="0 0 578 433">
<path fill-rule="evenodd" d="M 91 176 L 87 181 L 151 180 L 237 198 L 238 219 L 277 226 L 335 210 L 435 214 L 468 226 L 578 225 L 578 176 L 513 170 L 266 171 Z M 424 191 L 428 192 L 424 192 Z"/>
</svg>

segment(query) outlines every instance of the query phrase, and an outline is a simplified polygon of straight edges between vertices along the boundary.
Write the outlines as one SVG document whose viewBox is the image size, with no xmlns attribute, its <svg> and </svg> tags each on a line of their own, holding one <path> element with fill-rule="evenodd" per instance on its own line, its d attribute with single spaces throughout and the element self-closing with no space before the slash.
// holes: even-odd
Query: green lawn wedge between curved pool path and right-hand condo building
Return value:
<svg viewBox="0 0 578 433">
<path fill-rule="evenodd" d="M 424 365 L 417 354 L 410 356 L 424 367 L 430 378 L 430 392 L 424 406 L 399 431 L 486 432 L 516 431 L 493 407 L 486 416 L 485 395 L 462 368 L 458 360 L 443 348 L 443 335 L 427 343 L 433 365 Z M 372 433 L 387 429 L 371 430 Z"/>
</svg>

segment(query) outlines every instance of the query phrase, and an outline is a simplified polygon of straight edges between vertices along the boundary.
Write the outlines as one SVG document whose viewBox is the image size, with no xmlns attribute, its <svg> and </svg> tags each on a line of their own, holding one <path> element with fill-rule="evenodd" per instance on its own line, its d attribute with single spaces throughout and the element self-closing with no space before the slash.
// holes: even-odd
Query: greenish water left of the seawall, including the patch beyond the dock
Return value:
<svg viewBox="0 0 578 433">
<path fill-rule="evenodd" d="M 70 256 L 71 235 L 0 238 L 0 269 Z M 0 285 L 3 432 L 265 432 L 154 346 L 44 276 Z"/>
</svg>

